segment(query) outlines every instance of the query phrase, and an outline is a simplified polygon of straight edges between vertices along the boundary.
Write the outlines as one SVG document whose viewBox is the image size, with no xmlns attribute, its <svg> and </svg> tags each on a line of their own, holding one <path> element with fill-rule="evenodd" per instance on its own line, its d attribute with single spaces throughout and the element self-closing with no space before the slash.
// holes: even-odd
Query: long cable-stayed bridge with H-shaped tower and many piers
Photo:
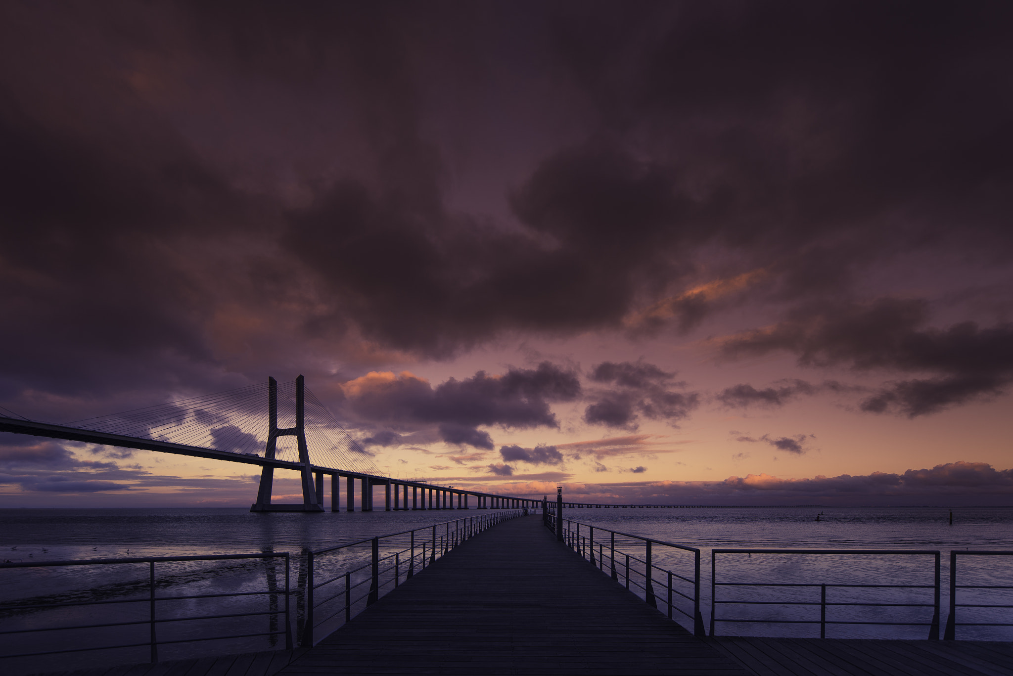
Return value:
<svg viewBox="0 0 1013 676">
<path fill-rule="evenodd" d="M 262 467 L 251 512 L 323 512 L 325 476 L 331 477 L 330 510 L 373 511 L 374 486 L 384 487 L 384 509 L 479 509 L 534 507 L 541 501 L 465 491 L 382 476 L 372 455 L 306 386 L 303 376 L 250 385 L 178 401 L 100 416 L 68 425 L 0 417 L 0 432 L 135 448 Z M 311 458 L 312 452 L 312 458 Z M 276 469 L 300 473 L 303 502 L 271 502 Z M 410 490 L 410 498 L 409 498 Z M 455 505 L 455 500 L 457 505 Z"/>
</svg>

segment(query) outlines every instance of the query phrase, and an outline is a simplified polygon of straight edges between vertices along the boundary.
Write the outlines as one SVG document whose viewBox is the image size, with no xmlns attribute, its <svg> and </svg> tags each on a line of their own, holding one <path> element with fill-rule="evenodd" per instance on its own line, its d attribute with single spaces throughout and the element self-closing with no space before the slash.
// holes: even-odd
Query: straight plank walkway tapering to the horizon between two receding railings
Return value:
<svg viewBox="0 0 1013 676">
<path fill-rule="evenodd" d="M 582 562 L 537 516 L 472 538 L 280 673 L 749 674 Z"/>
</svg>

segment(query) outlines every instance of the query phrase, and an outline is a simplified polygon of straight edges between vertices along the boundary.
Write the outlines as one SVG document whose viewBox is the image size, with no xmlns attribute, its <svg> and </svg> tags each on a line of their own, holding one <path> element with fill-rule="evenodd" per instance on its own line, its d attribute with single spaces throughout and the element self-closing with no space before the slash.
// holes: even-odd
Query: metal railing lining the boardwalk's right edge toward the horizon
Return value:
<svg viewBox="0 0 1013 676">
<path fill-rule="evenodd" d="M 550 512 L 543 516 L 545 525 L 553 532 L 556 530 L 556 516 Z M 704 632 L 703 617 L 700 614 L 700 550 L 695 547 L 687 547 L 682 544 L 657 540 L 640 535 L 631 535 L 617 530 L 609 530 L 600 526 L 562 520 L 563 542 L 573 551 L 579 554 L 585 560 L 600 570 L 630 591 L 643 594 L 643 599 L 647 605 L 657 608 L 658 599 L 661 600 L 669 619 L 677 621 L 674 613 L 685 616 L 693 626 L 693 633 L 698 636 L 706 635 Z M 583 533 L 580 528 L 587 529 Z M 599 533 L 596 540 L 596 531 Z M 608 539 L 604 540 L 604 537 Z M 616 548 L 616 536 L 620 537 L 619 549 Z M 623 541 L 625 538 L 625 541 Z M 622 547 L 643 546 L 643 558 L 627 551 Z M 674 571 L 658 566 L 655 562 L 655 546 L 668 547 L 667 554 L 680 554 L 690 552 L 693 554 L 693 573 L 691 575 L 680 575 Z M 597 550 L 596 550 L 597 547 Z M 617 566 L 618 553 L 618 566 Z M 667 556 L 668 557 L 668 556 Z M 689 561 L 687 561 L 687 565 Z M 608 566 L 608 571 L 606 571 Z M 660 574 L 661 579 L 655 577 Z M 632 589 L 631 589 L 632 586 Z M 659 589 L 661 594 L 657 590 Z M 683 591 L 685 590 L 685 592 Z M 692 604 L 691 607 L 683 609 L 682 605 Z"/>
</svg>

